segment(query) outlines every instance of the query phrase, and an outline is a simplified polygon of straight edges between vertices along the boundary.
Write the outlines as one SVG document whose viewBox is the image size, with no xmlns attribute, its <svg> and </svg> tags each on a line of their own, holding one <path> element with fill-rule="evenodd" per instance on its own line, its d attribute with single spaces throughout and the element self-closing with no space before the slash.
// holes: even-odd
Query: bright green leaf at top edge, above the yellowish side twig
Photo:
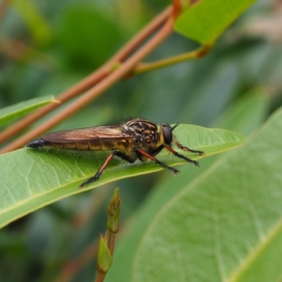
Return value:
<svg viewBox="0 0 282 282">
<path fill-rule="evenodd" d="M 255 0 L 202 0 L 182 13 L 175 30 L 201 44 L 212 45 Z"/>
</svg>

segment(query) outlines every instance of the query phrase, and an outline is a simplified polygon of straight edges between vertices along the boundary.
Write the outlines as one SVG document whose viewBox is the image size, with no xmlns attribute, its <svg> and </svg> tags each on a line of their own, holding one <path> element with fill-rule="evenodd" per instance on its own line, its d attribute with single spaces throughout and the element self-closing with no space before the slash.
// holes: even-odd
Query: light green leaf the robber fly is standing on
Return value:
<svg viewBox="0 0 282 282">
<path fill-rule="evenodd" d="M 237 147 L 245 140 L 238 133 L 196 125 L 180 125 L 175 131 L 183 145 L 202 149 L 207 156 Z M 78 189 L 78 185 L 96 173 L 108 154 L 26 148 L 1 155 L 0 226 L 68 195 L 162 169 L 149 162 L 142 164 L 136 161 L 133 165 L 125 165 L 124 161 L 113 159 L 99 181 L 83 190 Z M 192 159 L 200 158 L 197 154 L 187 155 Z M 161 152 L 158 159 L 173 166 L 183 163 L 166 152 Z M 196 168 L 191 166 L 191 169 Z"/>
</svg>

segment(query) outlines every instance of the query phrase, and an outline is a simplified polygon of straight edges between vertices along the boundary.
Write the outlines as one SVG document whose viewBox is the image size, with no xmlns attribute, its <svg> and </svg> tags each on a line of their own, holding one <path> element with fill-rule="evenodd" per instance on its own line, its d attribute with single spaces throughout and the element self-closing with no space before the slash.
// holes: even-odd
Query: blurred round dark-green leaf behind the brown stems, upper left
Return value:
<svg viewBox="0 0 282 282">
<path fill-rule="evenodd" d="M 58 26 L 63 53 L 73 63 L 93 69 L 104 63 L 118 45 L 121 32 L 104 11 L 94 6 L 71 6 L 63 11 Z"/>
</svg>

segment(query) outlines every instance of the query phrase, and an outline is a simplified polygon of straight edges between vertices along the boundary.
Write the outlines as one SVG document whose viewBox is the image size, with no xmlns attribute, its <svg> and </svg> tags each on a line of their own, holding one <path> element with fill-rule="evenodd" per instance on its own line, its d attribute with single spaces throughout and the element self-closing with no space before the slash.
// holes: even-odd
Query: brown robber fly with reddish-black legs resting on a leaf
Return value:
<svg viewBox="0 0 282 282">
<path fill-rule="evenodd" d="M 166 148 L 176 157 L 199 167 L 197 161 L 179 154 L 171 147 L 174 144 L 178 148 L 183 149 L 183 151 L 204 154 L 202 151 L 184 147 L 176 140 L 173 136 L 173 130 L 178 125 L 179 123 L 176 123 L 176 125 L 171 127 L 168 123 L 162 123 L 158 128 L 152 121 L 134 118 L 123 125 L 97 126 L 49 133 L 39 139 L 30 141 L 27 147 L 112 151 L 97 173 L 80 185 L 80 188 L 82 188 L 98 180 L 114 156 L 128 161 L 130 164 L 133 164 L 137 159 L 140 159 L 142 162 L 151 159 L 156 164 L 173 171 L 174 174 L 180 173 L 176 168 L 168 166 L 155 158 L 162 149 Z"/>
</svg>

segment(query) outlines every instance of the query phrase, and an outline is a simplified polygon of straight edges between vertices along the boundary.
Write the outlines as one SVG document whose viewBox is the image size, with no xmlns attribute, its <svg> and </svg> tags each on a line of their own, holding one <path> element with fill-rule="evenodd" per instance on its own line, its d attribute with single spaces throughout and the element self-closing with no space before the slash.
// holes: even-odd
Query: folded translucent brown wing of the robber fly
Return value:
<svg viewBox="0 0 282 282">
<path fill-rule="evenodd" d="M 118 141 L 132 138 L 121 132 L 120 125 L 97 126 L 91 128 L 80 128 L 74 130 L 63 130 L 48 133 L 42 136 L 43 140 L 49 142 L 88 142 L 88 141 Z"/>
</svg>

